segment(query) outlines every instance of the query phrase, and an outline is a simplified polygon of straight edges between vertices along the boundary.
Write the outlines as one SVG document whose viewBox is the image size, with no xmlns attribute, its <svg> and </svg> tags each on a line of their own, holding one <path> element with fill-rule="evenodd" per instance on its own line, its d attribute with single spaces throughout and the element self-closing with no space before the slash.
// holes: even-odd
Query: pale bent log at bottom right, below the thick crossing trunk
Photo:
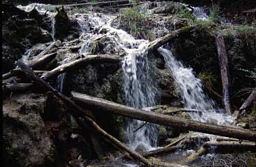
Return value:
<svg viewBox="0 0 256 167">
<path fill-rule="evenodd" d="M 182 164 L 190 164 L 207 153 L 242 153 L 245 151 L 256 153 L 256 144 L 254 142 L 205 142 L 199 151 L 186 157 Z"/>
</svg>

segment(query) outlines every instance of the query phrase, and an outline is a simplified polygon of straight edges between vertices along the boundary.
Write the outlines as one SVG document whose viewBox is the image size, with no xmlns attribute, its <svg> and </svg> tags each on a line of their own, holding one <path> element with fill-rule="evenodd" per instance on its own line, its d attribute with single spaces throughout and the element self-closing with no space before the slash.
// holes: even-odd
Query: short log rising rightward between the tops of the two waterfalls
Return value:
<svg viewBox="0 0 256 167">
<path fill-rule="evenodd" d="M 153 40 L 149 43 L 149 46 L 147 48 L 148 52 L 152 52 L 153 50 L 157 50 L 157 48 L 163 46 L 164 44 L 168 43 L 170 40 L 175 39 L 176 37 L 179 37 L 179 35 L 183 33 L 188 33 L 192 31 L 194 27 L 188 26 L 188 27 L 182 27 L 181 29 L 177 29 L 175 31 L 171 31 L 164 37 L 160 37 L 156 40 Z"/>
</svg>

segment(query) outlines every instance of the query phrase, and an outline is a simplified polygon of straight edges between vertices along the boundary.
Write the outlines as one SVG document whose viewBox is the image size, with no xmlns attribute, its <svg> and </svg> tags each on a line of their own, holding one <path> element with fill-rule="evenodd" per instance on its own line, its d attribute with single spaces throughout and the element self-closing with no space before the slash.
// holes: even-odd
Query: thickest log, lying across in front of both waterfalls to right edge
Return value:
<svg viewBox="0 0 256 167">
<path fill-rule="evenodd" d="M 226 127 L 220 125 L 211 125 L 207 123 L 201 123 L 199 121 L 191 121 L 187 119 L 181 119 L 177 117 L 171 117 L 166 115 L 157 115 L 152 112 L 144 110 L 138 110 L 129 106 L 116 104 L 107 100 L 102 100 L 90 95 L 72 92 L 73 98 L 90 109 L 101 109 L 108 112 L 112 112 L 116 115 L 129 117 L 131 119 L 138 119 L 141 121 L 147 121 L 151 123 L 157 123 L 159 125 L 166 125 L 171 127 L 184 128 L 185 130 L 192 130 L 194 132 L 202 132 L 206 134 L 215 134 L 218 136 L 226 136 L 231 138 L 239 138 L 244 140 L 256 141 L 256 132 L 244 129 L 238 129 L 235 127 Z"/>
</svg>

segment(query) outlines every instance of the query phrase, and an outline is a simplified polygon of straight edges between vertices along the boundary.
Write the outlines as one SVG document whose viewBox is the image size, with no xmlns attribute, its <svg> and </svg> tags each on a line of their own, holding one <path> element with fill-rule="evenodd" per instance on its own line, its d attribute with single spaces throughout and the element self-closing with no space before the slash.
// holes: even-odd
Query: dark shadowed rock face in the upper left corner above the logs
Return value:
<svg viewBox="0 0 256 167">
<path fill-rule="evenodd" d="M 14 61 L 33 44 L 51 41 L 51 34 L 42 29 L 43 22 L 35 10 L 27 13 L 12 5 L 3 6 L 2 72 L 5 73 L 14 68 Z"/>
</svg>

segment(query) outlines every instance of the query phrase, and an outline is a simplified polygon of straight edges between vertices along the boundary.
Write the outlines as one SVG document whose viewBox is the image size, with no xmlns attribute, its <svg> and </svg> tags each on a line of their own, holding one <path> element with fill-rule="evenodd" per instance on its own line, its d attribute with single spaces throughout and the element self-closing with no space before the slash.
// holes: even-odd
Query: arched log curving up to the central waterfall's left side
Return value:
<svg viewBox="0 0 256 167">
<path fill-rule="evenodd" d="M 63 72 L 67 72 L 70 70 L 77 70 L 79 67 L 85 67 L 88 64 L 93 63 L 120 63 L 121 58 L 115 55 L 88 55 L 86 58 L 78 59 L 72 61 L 71 63 L 66 63 L 64 65 L 60 65 L 55 69 L 47 72 L 47 74 L 42 75 L 44 80 L 49 80 L 49 78 L 53 78 L 62 74 Z"/>
</svg>

